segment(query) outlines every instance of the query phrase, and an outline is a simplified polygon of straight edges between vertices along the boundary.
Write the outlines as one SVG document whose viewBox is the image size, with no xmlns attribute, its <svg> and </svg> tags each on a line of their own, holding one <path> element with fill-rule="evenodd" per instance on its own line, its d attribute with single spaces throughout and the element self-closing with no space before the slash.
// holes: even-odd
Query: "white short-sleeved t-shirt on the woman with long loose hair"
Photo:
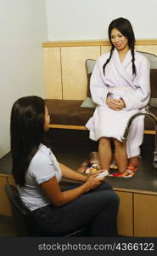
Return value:
<svg viewBox="0 0 157 256">
<path fill-rule="evenodd" d="M 20 198 L 31 211 L 50 204 L 43 193 L 40 183 L 56 177 L 58 182 L 62 177 L 59 163 L 50 148 L 40 144 L 38 151 L 31 160 L 25 173 L 25 186 L 19 187 Z"/>
</svg>

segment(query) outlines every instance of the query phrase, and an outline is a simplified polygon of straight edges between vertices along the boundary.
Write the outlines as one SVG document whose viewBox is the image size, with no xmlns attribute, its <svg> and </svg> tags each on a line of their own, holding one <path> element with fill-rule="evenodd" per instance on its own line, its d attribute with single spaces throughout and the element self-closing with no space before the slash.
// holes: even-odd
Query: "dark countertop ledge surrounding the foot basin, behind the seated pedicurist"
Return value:
<svg viewBox="0 0 157 256">
<path fill-rule="evenodd" d="M 74 170 L 81 166 L 91 148 L 86 144 L 57 143 L 54 145 L 57 159 Z M 93 150 L 92 150 L 93 151 Z M 133 177 L 108 177 L 114 188 L 157 192 L 157 169 L 153 166 L 154 150 L 142 149 L 141 164 Z M 0 174 L 11 174 L 11 154 L 6 154 L 0 159 Z"/>
</svg>

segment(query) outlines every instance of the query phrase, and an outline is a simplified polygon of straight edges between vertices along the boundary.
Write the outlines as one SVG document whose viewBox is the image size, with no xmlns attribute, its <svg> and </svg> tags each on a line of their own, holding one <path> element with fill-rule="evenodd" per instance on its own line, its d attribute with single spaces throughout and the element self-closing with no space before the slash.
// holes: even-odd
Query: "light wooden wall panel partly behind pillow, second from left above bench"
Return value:
<svg viewBox="0 0 157 256">
<path fill-rule="evenodd" d="M 99 46 L 61 47 L 63 98 L 82 100 L 87 96 L 87 75 L 85 61 L 97 59 Z"/>
</svg>

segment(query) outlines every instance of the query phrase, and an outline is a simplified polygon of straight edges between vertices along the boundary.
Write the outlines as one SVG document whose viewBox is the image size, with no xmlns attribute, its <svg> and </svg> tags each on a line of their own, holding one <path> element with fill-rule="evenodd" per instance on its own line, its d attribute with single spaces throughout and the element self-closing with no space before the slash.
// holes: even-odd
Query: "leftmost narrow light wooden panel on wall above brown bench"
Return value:
<svg viewBox="0 0 157 256">
<path fill-rule="evenodd" d="M 44 48 L 45 96 L 62 99 L 60 48 Z"/>
</svg>

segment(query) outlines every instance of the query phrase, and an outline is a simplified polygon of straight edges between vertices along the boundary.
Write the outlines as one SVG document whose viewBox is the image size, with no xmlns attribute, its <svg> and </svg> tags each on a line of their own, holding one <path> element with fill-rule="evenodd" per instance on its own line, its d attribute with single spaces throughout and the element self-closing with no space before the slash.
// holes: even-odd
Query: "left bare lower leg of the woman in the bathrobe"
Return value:
<svg viewBox="0 0 157 256">
<path fill-rule="evenodd" d="M 112 158 L 110 139 L 107 137 L 102 137 L 98 144 L 98 154 L 100 160 L 100 166 L 102 169 L 109 170 L 110 161 Z"/>
</svg>

